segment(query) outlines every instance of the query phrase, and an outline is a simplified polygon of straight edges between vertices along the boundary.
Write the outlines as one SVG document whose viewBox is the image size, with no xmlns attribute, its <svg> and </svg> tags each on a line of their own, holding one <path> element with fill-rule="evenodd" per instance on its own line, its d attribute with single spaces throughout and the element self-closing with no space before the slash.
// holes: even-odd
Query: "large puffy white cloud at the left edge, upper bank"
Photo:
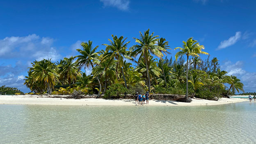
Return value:
<svg viewBox="0 0 256 144">
<path fill-rule="evenodd" d="M 30 60 L 42 60 L 52 58 L 56 61 L 60 58 L 57 50 L 52 47 L 52 38 L 40 37 L 36 34 L 28 36 L 11 36 L 0 40 L 1 58 L 30 58 Z"/>
</svg>

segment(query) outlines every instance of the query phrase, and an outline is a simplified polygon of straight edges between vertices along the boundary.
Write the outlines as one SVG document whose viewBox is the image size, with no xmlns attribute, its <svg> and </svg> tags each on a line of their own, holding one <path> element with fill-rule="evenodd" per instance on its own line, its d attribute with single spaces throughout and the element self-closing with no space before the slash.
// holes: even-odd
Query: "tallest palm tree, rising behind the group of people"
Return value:
<svg viewBox="0 0 256 144">
<path fill-rule="evenodd" d="M 140 54 L 138 61 L 144 61 L 146 65 L 146 75 L 147 75 L 147 85 L 150 91 L 150 76 L 149 76 L 149 58 L 151 54 L 154 54 L 155 56 L 162 58 L 163 52 L 167 52 L 165 48 L 162 48 L 158 45 L 156 45 L 158 41 L 159 36 L 154 36 L 152 34 L 149 34 L 149 29 L 144 32 L 144 34 L 140 33 L 140 38 L 134 38 L 136 43 L 139 43 L 138 45 L 133 45 L 130 47 L 130 56 L 136 57 Z M 144 59 L 143 59 L 144 58 Z"/>
</svg>

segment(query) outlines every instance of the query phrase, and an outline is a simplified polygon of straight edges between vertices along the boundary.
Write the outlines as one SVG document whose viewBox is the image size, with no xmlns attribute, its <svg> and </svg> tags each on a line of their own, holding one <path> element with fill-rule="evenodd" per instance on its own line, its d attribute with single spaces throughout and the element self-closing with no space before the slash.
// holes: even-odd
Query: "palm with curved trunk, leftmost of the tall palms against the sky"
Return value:
<svg viewBox="0 0 256 144">
<path fill-rule="evenodd" d="M 83 49 L 76 49 L 81 55 L 75 56 L 75 58 L 78 58 L 77 61 L 77 65 L 79 65 L 80 67 L 89 67 L 91 66 L 91 68 L 94 67 L 94 62 L 96 60 L 96 58 L 98 57 L 98 54 L 96 53 L 96 50 L 98 48 L 98 45 L 96 47 L 92 47 L 92 41 L 88 41 L 87 42 L 82 42 L 81 43 Z M 101 94 L 101 81 L 98 79 L 98 76 L 96 77 L 99 83 L 99 92 L 98 94 Z"/>
</svg>

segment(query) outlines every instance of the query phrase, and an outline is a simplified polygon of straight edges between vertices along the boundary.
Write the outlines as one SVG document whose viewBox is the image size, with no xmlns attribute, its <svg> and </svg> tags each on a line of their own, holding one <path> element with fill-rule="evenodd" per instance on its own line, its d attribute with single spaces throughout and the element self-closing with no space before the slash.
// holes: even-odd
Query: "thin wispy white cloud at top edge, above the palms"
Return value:
<svg viewBox="0 0 256 144">
<path fill-rule="evenodd" d="M 120 10 L 126 11 L 129 9 L 130 0 L 100 0 L 104 7 L 117 7 Z"/>
</svg>

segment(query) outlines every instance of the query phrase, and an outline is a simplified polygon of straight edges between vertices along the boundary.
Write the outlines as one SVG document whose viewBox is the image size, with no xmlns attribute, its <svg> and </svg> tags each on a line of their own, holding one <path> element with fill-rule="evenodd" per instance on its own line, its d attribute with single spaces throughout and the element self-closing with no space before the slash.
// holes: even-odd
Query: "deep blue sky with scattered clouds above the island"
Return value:
<svg viewBox="0 0 256 144">
<path fill-rule="evenodd" d="M 35 59 L 75 56 L 88 40 L 105 49 L 111 34 L 127 37 L 130 47 L 150 29 L 172 49 L 194 37 L 245 91 L 256 91 L 255 6 L 255 0 L 1 1 L 0 85 L 29 92 L 23 78 Z M 170 52 L 168 58 L 176 53 Z"/>
</svg>

